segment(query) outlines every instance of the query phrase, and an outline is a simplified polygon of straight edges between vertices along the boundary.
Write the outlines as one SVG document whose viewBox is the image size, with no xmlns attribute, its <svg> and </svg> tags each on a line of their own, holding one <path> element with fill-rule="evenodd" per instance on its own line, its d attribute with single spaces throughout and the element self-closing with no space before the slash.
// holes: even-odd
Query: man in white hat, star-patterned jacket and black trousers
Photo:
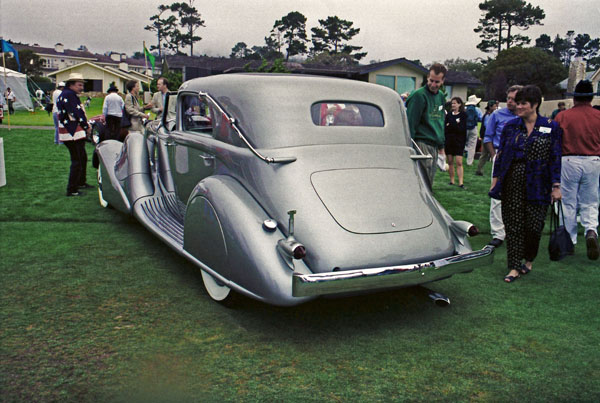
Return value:
<svg viewBox="0 0 600 403">
<path fill-rule="evenodd" d="M 87 165 L 85 135 L 86 132 L 91 133 L 92 127 L 87 122 L 79 100 L 79 94 L 83 92 L 83 83 L 81 74 L 71 73 L 65 83 L 65 89 L 56 102 L 59 140 L 67 146 L 71 155 L 67 196 L 82 196 L 84 193 L 79 189 L 92 187 L 85 182 Z"/>
</svg>

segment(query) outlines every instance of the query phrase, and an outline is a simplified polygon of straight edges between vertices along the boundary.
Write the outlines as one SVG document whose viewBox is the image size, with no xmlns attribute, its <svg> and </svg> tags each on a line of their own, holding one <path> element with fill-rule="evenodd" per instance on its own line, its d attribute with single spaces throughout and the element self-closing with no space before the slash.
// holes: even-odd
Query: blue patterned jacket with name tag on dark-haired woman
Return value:
<svg viewBox="0 0 600 403">
<path fill-rule="evenodd" d="M 560 183 L 562 129 L 558 123 L 538 116 L 533 131 L 527 137 L 523 119 L 516 118 L 504 126 L 500 147 L 494 163 L 496 186 L 489 195 L 502 198 L 502 184 L 515 159 L 523 159 L 527 175 L 527 201 L 550 204 L 552 184 Z"/>
</svg>

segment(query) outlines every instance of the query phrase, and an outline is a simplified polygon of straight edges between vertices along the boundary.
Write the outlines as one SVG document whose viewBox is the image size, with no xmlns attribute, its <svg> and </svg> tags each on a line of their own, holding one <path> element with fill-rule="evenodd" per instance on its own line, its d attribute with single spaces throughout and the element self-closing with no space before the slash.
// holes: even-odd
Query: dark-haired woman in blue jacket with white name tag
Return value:
<svg viewBox="0 0 600 403">
<path fill-rule="evenodd" d="M 523 87 L 515 102 L 518 118 L 502 130 L 489 193 L 502 200 L 507 283 L 531 271 L 548 205 L 562 197 L 562 130 L 556 122 L 539 115 L 542 92 L 538 87 Z"/>
</svg>

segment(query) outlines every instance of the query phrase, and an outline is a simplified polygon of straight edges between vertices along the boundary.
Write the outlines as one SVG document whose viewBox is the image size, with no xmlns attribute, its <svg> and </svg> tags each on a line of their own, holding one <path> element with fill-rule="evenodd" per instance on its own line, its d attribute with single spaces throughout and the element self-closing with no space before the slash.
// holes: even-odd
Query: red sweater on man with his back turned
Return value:
<svg viewBox="0 0 600 403">
<path fill-rule="evenodd" d="M 563 129 L 563 155 L 600 156 L 600 111 L 578 104 L 559 113 L 555 120 Z"/>
</svg>

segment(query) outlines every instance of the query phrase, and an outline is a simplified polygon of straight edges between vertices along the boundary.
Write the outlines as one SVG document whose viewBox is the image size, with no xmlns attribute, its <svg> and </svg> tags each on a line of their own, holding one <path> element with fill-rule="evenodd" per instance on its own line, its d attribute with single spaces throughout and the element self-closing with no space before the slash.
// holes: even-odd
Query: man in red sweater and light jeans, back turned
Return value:
<svg viewBox="0 0 600 403">
<path fill-rule="evenodd" d="M 563 129 L 561 191 L 565 227 L 577 243 L 577 206 L 585 229 L 587 256 L 596 260 L 598 246 L 598 182 L 600 178 L 600 111 L 592 108 L 594 87 L 581 80 L 575 87 L 575 106 L 556 116 Z"/>
</svg>

